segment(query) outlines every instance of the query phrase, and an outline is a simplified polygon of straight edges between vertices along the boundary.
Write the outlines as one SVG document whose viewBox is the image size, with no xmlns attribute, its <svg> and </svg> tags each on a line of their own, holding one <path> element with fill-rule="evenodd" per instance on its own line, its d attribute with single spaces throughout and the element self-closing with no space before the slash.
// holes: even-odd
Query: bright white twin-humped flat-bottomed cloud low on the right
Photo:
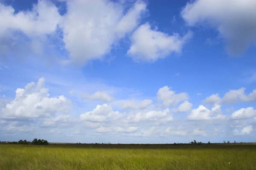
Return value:
<svg viewBox="0 0 256 170">
<path fill-rule="evenodd" d="M 209 119 L 224 119 L 225 116 L 222 115 L 221 106 L 215 105 L 210 111 L 203 105 L 198 106 L 198 108 L 193 109 L 188 115 L 187 119 L 190 120 L 209 120 Z"/>
</svg>

